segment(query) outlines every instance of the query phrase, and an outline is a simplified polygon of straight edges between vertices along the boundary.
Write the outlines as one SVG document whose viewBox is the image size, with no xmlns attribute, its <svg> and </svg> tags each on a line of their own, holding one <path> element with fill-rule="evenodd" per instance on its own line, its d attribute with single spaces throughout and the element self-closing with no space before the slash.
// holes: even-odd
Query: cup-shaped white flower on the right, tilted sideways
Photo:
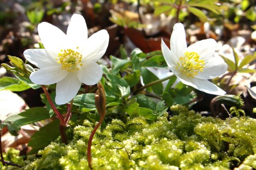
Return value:
<svg viewBox="0 0 256 170">
<path fill-rule="evenodd" d="M 163 42 L 163 56 L 171 71 L 180 81 L 208 94 L 224 95 L 207 79 L 218 77 L 227 71 L 227 64 L 221 57 L 213 57 L 217 42 L 213 39 L 198 41 L 189 47 L 183 24 L 176 23 L 171 36 L 171 50 Z"/>
</svg>

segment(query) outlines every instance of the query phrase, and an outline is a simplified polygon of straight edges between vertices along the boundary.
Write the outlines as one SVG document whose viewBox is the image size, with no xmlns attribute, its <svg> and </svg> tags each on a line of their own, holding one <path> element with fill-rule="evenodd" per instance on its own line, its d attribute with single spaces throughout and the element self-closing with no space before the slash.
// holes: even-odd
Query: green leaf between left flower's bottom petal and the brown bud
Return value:
<svg viewBox="0 0 256 170">
<path fill-rule="evenodd" d="M 95 94 L 87 93 L 76 95 L 73 99 L 73 105 L 79 106 L 80 110 L 83 108 L 83 111 L 85 111 L 85 109 L 88 111 L 96 110 Z"/>
</svg>

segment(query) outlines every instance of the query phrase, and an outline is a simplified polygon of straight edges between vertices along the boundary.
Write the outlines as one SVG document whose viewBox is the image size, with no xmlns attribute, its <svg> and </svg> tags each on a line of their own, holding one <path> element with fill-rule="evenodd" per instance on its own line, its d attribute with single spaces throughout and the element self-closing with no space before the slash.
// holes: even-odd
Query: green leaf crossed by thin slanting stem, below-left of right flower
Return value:
<svg viewBox="0 0 256 170">
<path fill-rule="evenodd" d="M 154 75 L 151 71 L 149 71 L 147 68 L 141 68 L 141 75 L 142 75 L 144 84 L 148 84 L 150 82 L 158 80 L 158 77 Z M 155 85 L 151 85 L 149 88 L 147 88 L 148 91 L 151 91 L 151 89 L 155 94 L 162 94 L 163 84 L 160 82 Z"/>
</svg>

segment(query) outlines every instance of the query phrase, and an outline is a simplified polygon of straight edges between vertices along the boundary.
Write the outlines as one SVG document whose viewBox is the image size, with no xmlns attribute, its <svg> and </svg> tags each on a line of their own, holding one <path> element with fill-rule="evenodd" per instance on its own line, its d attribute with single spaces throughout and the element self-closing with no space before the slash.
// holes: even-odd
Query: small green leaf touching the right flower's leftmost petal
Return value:
<svg viewBox="0 0 256 170">
<path fill-rule="evenodd" d="M 156 55 L 141 63 L 142 67 L 168 67 L 163 55 Z"/>
</svg>

